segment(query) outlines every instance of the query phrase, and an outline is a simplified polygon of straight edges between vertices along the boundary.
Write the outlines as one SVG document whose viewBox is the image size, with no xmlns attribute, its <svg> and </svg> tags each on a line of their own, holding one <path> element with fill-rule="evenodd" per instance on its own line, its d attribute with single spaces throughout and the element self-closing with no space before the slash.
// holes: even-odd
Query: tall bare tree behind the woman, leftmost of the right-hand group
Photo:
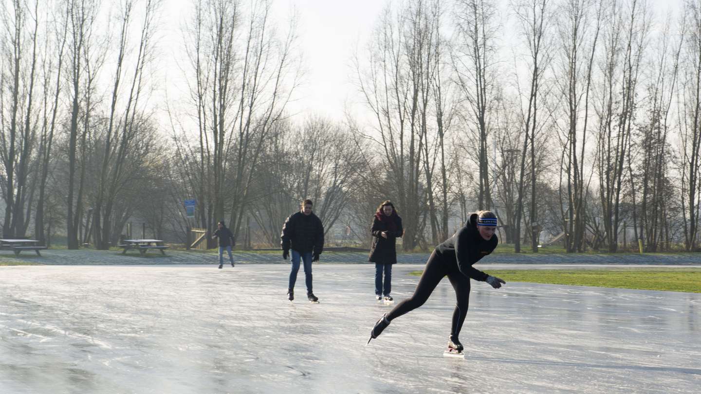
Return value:
<svg viewBox="0 0 701 394">
<path fill-rule="evenodd" d="M 376 142 L 379 157 L 396 180 L 396 191 L 386 194 L 397 196 L 404 210 L 404 250 L 414 249 L 421 240 L 427 200 L 432 236 L 437 238 L 432 184 L 435 150 L 426 146 L 439 41 L 435 24 L 440 13 L 429 11 L 440 9 L 435 7 L 417 0 L 396 13 L 386 8 L 368 50 L 369 68 L 362 69 L 356 61 L 360 92 L 374 118 L 375 133 L 366 137 Z"/>
</svg>

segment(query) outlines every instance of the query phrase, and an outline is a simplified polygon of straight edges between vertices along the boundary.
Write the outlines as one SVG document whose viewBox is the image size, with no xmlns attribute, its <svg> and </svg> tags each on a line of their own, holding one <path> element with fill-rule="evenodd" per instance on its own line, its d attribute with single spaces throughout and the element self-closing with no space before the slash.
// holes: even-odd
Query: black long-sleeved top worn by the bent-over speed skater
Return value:
<svg viewBox="0 0 701 394">
<path fill-rule="evenodd" d="M 436 251 L 442 254 L 449 264 L 458 264 L 458 269 L 465 276 L 484 282 L 489 275 L 474 268 L 472 264 L 490 254 L 499 240 L 496 234 L 489 240 L 482 238 L 477 231 L 477 219 L 476 213 L 470 215 L 465 226 L 438 245 Z"/>
</svg>

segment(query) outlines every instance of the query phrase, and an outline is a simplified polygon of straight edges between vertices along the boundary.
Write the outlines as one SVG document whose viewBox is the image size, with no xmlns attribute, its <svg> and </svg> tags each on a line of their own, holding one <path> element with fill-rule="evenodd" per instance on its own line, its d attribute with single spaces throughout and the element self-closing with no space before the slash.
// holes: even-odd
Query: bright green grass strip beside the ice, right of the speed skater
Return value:
<svg viewBox="0 0 701 394">
<path fill-rule="evenodd" d="M 701 293 L 701 269 L 487 270 L 509 282 Z M 411 275 L 421 276 L 422 271 Z"/>
</svg>

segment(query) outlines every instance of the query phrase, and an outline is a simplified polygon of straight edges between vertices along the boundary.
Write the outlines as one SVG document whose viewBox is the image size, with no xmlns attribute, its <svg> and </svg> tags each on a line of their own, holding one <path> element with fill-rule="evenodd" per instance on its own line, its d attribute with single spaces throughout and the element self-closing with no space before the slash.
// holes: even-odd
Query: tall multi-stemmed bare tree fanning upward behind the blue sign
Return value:
<svg viewBox="0 0 701 394">
<path fill-rule="evenodd" d="M 294 20 L 287 34 L 271 24 L 271 1 L 198 1 L 187 32 L 197 142 L 179 143 L 195 161 L 200 223 L 211 229 L 229 212 L 238 232 L 257 165 L 297 85 Z M 196 147 L 196 148 L 195 148 Z"/>
</svg>

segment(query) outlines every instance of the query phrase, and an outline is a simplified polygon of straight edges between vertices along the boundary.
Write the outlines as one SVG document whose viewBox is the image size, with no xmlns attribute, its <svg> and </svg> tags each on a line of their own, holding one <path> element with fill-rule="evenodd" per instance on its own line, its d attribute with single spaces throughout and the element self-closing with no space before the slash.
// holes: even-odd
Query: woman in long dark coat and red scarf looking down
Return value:
<svg viewBox="0 0 701 394">
<path fill-rule="evenodd" d="M 404 233 L 402 218 L 397 215 L 392 201 L 383 201 L 372 218 L 372 245 L 367 261 L 375 263 L 375 298 L 392 301 L 392 264 L 397 263 L 397 238 Z M 384 283 L 382 273 L 385 274 Z"/>
</svg>

